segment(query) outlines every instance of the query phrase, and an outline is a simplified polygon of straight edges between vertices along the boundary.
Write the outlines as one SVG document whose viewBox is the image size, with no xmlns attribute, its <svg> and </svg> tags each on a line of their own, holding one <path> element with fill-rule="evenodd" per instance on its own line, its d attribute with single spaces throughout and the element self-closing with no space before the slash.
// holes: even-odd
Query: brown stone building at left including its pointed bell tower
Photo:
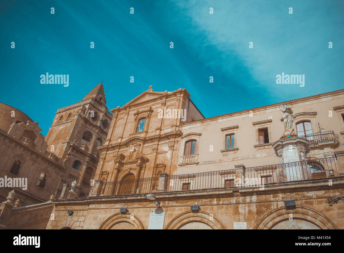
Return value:
<svg viewBox="0 0 344 253">
<path fill-rule="evenodd" d="M 104 144 L 112 118 L 102 84 L 82 101 L 58 109 L 46 137 L 20 110 L 2 103 L 0 108 L 0 177 L 28 182 L 27 189 L 13 187 L 18 206 L 58 197 L 64 183 L 90 184 L 99 161 L 97 147 Z M 1 202 L 11 190 L 0 187 Z"/>
</svg>

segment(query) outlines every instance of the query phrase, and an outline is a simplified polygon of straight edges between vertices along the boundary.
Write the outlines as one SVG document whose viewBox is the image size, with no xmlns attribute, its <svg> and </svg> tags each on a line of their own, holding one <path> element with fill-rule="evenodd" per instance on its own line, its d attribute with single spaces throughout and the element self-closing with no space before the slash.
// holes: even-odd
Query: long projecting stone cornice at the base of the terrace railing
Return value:
<svg viewBox="0 0 344 253">
<path fill-rule="evenodd" d="M 302 181 L 290 181 L 280 182 L 266 185 L 264 189 L 259 187 L 232 187 L 221 189 L 206 189 L 206 190 L 187 190 L 187 191 L 175 191 L 175 192 L 155 192 L 154 195 L 159 201 L 175 201 L 175 200 L 190 200 L 190 199 L 214 199 L 214 198 L 233 198 L 236 196 L 246 197 L 255 195 L 270 195 L 280 193 L 295 193 L 302 191 L 321 191 L 321 190 L 333 190 L 343 189 L 344 176 L 331 177 L 335 179 L 336 183 L 333 186 L 328 185 L 329 178 L 323 179 L 310 179 Z M 327 183 L 326 183 L 327 182 Z M 323 197 L 327 198 L 327 196 Z M 305 199 L 313 199 L 307 198 Z M 71 205 L 92 205 L 92 204 L 107 204 L 107 203 L 139 203 L 149 202 L 146 199 L 146 193 L 130 194 L 122 196 L 96 196 L 78 199 L 54 199 L 52 202 L 56 206 L 71 206 Z M 280 202 L 285 199 L 278 200 Z M 247 204 L 268 202 L 268 201 L 249 201 Z M 222 203 L 228 205 L 228 203 Z M 231 204 L 243 204 L 243 202 L 234 202 Z M 96 209 L 96 205 L 94 207 Z"/>
</svg>

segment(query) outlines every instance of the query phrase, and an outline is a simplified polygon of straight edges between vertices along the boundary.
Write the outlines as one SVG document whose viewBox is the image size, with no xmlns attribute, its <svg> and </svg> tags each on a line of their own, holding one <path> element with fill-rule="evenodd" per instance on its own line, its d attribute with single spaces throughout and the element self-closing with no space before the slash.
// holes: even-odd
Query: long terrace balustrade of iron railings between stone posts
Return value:
<svg viewBox="0 0 344 253">
<path fill-rule="evenodd" d="M 154 192 L 175 192 L 237 187 L 264 187 L 276 183 L 288 183 L 304 180 L 316 180 L 337 177 L 336 158 L 321 158 L 307 161 L 289 162 L 245 168 L 200 172 L 194 174 L 160 176 L 153 178 L 132 179 L 95 186 L 65 185 L 62 198 L 82 198 L 91 196 L 122 196 L 147 194 Z M 162 181 L 160 181 L 162 180 Z M 160 188 L 159 188 L 160 187 Z M 164 188 L 164 189 L 161 189 Z"/>
</svg>

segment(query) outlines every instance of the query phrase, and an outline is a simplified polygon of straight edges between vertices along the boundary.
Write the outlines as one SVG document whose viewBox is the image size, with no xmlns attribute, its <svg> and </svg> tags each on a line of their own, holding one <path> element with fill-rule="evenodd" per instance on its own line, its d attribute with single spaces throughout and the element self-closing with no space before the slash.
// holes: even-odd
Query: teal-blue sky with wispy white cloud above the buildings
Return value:
<svg viewBox="0 0 344 253">
<path fill-rule="evenodd" d="M 58 108 L 82 100 L 103 79 L 109 109 L 153 85 L 154 91 L 186 88 L 205 117 L 334 91 L 344 86 L 343 6 L 328 0 L 2 1 L 0 102 L 39 122 L 46 135 Z M 46 72 L 68 74 L 69 86 L 41 84 Z M 305 86 L 276 84 L 282 72 L 304 74 Z"/>
</svg>

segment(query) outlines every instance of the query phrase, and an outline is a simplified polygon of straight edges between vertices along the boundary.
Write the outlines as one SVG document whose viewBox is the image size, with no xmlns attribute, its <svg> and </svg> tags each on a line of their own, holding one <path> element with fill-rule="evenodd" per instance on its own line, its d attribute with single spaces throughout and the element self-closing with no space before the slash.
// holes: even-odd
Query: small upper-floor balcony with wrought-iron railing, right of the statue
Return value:
<svg viewBox="0 0 344 253">
<path fill-rule="evenodd" d="M 334 131 L 323 131 L 300 137 L 308 140 L 310 148 L 316 148 L 323 145 L 336 146 L 339 143 L 339 136 L 335 134 Z"/>
</svg>

